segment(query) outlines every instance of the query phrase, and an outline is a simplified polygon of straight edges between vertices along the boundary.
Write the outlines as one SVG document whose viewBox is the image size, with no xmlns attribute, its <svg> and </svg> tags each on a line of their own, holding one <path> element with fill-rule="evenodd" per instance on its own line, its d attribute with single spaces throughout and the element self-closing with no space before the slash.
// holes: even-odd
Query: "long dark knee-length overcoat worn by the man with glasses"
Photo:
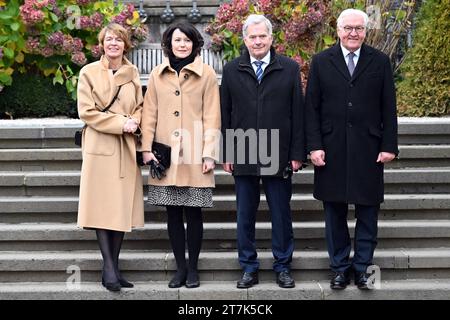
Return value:
<svg viewBox="0 0 450 320">
<path fill-rule="evenodd" d="M 353 73 L 340 44 L 312 59 L 306 95 L 307 150 L 325 151 L 314 197 L 376 205 L 384 200 L 381 151 L 398 154 L 395 87 L 388 56 L 363 45 Z"/>
</svg>

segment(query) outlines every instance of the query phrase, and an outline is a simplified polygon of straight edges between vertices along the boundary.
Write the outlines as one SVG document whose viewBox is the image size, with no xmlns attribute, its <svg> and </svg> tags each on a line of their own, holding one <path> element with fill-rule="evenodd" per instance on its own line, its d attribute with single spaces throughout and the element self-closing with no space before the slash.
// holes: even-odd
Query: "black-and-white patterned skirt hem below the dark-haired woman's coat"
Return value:
<svg viewBox="0 0 450 320">
<path fill-rule="evenodd" d="M 148 200 L 155 206 L 211 208 L 212 188 L 148 186 Z"/>
</svg>

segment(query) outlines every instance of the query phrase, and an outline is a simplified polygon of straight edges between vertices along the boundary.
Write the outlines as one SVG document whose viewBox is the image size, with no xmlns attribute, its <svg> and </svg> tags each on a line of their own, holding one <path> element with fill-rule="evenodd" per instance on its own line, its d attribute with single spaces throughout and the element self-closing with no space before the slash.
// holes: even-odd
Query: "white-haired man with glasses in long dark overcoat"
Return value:
<svg viewBox="0 0 450 320">
<path fill-rule="evenodd" d="M 313 57 L 306 94 L 307 150 L 314 197 L 325 211 L 332 289 L 344 289 L 352 269 L 359 289 L 372 288 L 366 271 L 377 245 L 383 164 L 398 154 L 392 69 L 385 54 L 363 44 L 367 24 L 363 11 L 341 13 L 340 43 Z M 352 260 L 348 204 L 356 215 Z"/>
</svg>

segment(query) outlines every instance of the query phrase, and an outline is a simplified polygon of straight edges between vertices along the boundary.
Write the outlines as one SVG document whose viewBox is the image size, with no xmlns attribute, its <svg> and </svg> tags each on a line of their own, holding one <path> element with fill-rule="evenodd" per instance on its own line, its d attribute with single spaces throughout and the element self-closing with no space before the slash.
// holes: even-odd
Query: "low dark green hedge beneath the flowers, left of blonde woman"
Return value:
<svg viewBox="0 0 450 320">
<path fill-rule="evenodd" d="M 0 92 L 0 113 L 21 117 L 77 117 L 76 101 L 64 86 L 39 74 L 16 74 L 13 84 Z"/>
</svg>

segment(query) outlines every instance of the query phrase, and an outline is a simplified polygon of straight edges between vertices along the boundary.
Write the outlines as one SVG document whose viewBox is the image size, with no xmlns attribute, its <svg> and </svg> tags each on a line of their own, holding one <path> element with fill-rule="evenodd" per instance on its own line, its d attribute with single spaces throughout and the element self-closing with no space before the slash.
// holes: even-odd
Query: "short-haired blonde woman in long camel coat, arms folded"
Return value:
<svg viewBox="0 0 450 320">
<path fill-rule="evenodd" d="M 103 257 L 102 284 L 119 291 L 133 287 L 118 267 L 124 233 L 144 225 L 143 182 L 133 135 L 143 98 L 137 68 L 124 57 L 131 46 L 127 31 L 110 24 L 98 39 L 104 55 L 83 67 L 78 81 L 78 114 L 86 124 L 78 225 L 96 230 Z"/>
</svg>

